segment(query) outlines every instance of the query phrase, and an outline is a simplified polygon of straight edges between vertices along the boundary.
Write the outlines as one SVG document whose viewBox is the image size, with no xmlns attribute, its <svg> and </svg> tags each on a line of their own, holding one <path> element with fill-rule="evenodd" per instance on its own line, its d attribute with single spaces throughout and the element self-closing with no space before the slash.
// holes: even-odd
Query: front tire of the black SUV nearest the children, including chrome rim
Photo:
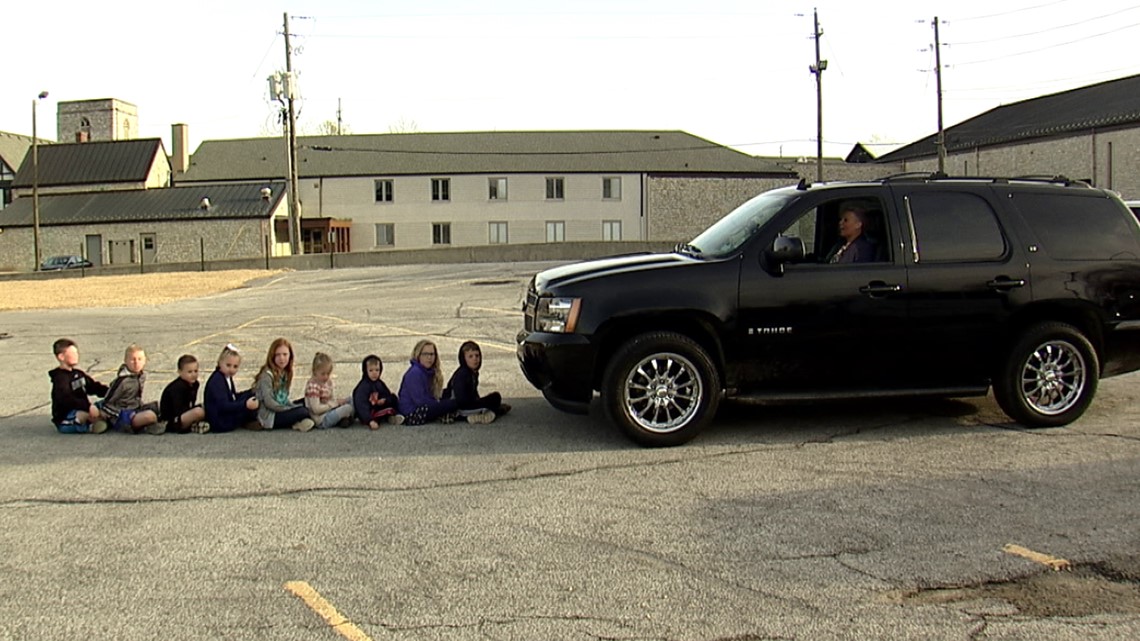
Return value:
<svg viewBox="0 0 1140 641">
<path fill-rule="evenodd" d="M 610 421 L 635 443 L 681 445 L 716 415 L 720 376 L 692 339 L 674 332 L 641 334 L 606 365 L 602 401 Z"/>
</svg>

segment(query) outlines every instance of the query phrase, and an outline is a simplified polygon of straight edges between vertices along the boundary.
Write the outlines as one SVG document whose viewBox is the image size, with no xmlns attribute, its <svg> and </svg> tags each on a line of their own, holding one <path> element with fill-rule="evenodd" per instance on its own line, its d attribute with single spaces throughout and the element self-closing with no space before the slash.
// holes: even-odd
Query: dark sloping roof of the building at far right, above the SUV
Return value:
<svg viewBox="0 0 1140 641">
<path fill-rule="evenodd" d="M 1140 124 L 1140 75 L 995 107 L 946 129 L 946 151 L 1129 124 Z M 878 162 L 936 156 L 936 139 L 937 133 L 911 143 L 883 154 Z"/>
</svg>

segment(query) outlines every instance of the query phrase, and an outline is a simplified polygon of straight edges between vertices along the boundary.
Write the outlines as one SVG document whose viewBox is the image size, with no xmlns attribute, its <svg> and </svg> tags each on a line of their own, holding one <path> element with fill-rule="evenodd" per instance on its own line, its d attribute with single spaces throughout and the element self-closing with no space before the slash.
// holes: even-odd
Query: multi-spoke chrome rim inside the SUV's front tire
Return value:
<svg viewBox="0 0 1140 641">
<path fill-rule="evenodd" d="M 629 370 L 622 390 L 629 419 L 644 430 L 668 433 L 689 424 L 705 397 L 700 373 L 677 354 L 653 354 Z"/>
</svg>

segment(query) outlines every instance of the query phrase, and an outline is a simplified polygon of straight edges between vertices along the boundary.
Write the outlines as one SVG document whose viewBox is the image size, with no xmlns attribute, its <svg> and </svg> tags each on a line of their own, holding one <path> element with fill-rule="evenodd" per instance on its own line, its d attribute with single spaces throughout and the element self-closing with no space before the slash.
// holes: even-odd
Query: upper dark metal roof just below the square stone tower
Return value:
<svg viewBox="0 0 1140 641">
<path fill-rule="evenodd" d="M 43 145 L 40 187 L 145 182 L 155 157 L 166 157 L 160 138 Z M 32 186 L 32 159 L 25 156 L 13 187 Z"/>
</svg>

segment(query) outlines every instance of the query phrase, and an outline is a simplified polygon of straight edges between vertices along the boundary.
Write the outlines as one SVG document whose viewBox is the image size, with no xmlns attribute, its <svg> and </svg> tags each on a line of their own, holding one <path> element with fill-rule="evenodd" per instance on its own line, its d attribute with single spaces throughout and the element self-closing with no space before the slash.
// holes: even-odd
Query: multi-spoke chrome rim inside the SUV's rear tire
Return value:
<svg viewBox="0 0 1140 641">
<path fill-rule="evenodd" d="M 1084 392 L 1088 366 L 1073 343 L 1053 340 L 1037 346 L 1021 370 L 1021 396 L 1041 414 L 1053 416 L 1076 405 Z"/>
</svg>

